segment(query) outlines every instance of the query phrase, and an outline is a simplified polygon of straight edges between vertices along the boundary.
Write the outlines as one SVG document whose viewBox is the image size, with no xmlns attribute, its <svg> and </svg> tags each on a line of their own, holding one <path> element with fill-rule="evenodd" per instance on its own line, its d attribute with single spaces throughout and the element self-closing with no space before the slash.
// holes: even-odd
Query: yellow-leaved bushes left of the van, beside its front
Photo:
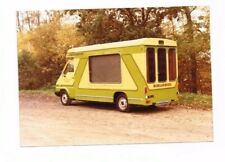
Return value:
<svg viewBox="0 0 225 162">
<path fill-rule="evenodd" d="M 80 46 L 82 36 L 74 25 L 42 24 L 18 34 L 19 88 L 36 89 L 54 85 L 66 62 L 66 52 Z"/>
</svg>

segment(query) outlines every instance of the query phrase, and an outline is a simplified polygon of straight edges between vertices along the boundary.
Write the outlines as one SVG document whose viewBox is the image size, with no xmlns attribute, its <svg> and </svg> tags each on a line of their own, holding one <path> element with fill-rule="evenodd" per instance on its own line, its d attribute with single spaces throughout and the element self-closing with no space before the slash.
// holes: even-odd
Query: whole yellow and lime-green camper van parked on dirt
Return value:
<svg viewBox="0 0 225 162">
<path fill-rule="evenodd" d="M 130 105 L 157 105 L 177 100 L 177 43 L 142 38 L 72 48 L 56 83 L 63 105 L 72 100 Z"/>
</svg>

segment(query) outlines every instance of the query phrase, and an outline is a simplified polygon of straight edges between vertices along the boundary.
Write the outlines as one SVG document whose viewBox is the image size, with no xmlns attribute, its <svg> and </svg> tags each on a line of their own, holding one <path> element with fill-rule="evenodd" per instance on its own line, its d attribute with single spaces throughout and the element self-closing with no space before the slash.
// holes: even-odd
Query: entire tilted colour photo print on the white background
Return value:
<svg viewBox="0 0 225 162">
<path fill-rule="evenodd" d="M 208 6 L 15 16 L 21 146 L 213 141 Z"/>
</svg>

